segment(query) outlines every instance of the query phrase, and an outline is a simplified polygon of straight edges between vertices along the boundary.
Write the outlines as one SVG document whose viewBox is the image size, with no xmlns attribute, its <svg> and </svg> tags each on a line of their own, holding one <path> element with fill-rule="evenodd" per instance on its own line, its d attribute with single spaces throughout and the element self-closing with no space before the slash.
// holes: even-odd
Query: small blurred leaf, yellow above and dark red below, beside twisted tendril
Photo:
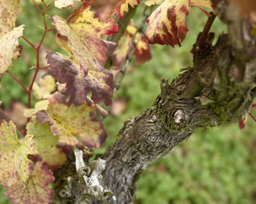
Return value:
<svg viewBox="0 0 256 204">
<path fill-rule="evenodd" d="M 127 33 L 133 37 L 135 35 L 135 32 L 137 31 L 137 29 L 138 28 L 131 21 L 131 23 L 129 23 L 129 26 L 127 26 Z M 139 36 L 140 36 L 140 34 L 136 34 L 135 42 L 138 42 Z M 135 56 L 136 56 L 136 58 L 135 58 L 136 65 L 145 63 L 146 61 L 151 60 L 151 58 L 152 58 L 149 44 L 146 41 L 144 36 L 142 36 L 140 38 L 140 41 L 138 42 L 138 44 L 136 46 Z"/>
</svg>

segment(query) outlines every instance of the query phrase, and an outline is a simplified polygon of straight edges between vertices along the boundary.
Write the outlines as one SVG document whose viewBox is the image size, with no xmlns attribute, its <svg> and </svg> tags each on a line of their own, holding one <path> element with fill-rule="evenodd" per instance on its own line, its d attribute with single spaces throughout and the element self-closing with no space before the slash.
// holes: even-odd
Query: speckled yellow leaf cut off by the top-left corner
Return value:
<svg viewBox="0 0 256 204">
<path fill-rule="evenodd" d="M 12 30 L 20 12 L 20 0 L 0 0 L 0 37 Z"/>
</svg>

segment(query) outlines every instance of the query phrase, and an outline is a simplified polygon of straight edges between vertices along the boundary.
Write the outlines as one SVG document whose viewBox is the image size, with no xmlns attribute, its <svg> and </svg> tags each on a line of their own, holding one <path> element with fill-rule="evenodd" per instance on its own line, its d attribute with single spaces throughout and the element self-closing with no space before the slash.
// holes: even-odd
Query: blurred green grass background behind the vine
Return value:
<svg viewBox="0 0 256 204">
<path fill-rule="evenodd" d="M 31 1 L 23 0 L 24 11 L 18 17 L 18 25 L 26 24 L 24 36 L 31 42 L 39 42 L 42 36 L 42 19 Z M 140 25 L 143 6 L 138 7 L 134 18 Z M 50 9 L 50 14 L 67 16 L 69 12 Z M 192 8 L 187 17 L 189 32 L 182 47 L 152 45 L 152 60 L 135 66 L 132 62 L 121 89 L 115 95 L 116 102 L 109 117 L 104 121 L 108 140 L 95 152 L 104 152 L 111 144 L 124 122 L 151 106 L 160 92 L 159 81 L 169 77 L 170 81 L 178 76 L 181 68 L 192 66 L 189 50 L 203 30 L 207 17 L 199 9 Z M 49 21 L 50 22 L 50 21 Z M 50 25 L 50 23 L 49 23 Z M 225 26 L 215 20 L 211 31 L 216 36 L 226 31 Z M 56 50 L 53 34 L 45 39 L 45 50 Z M 29 67 L 34 66 L 34 51 L 23 44 L 23 54 L 15 62 L 12 72 L 28 85 L 31 77 Z M 42 53 L 43 56 L 43 53 Z M 9 75 L 5 74 L 0 82 L 0 100 L 3 107 L 13 101 L 26 104 L 27 96 Z M 256 111 L 252 110 L 256 114 Z M 214 129 L 199 129 L 185 142 L 164 158 L 149 166 L 138 181 L 136 204 L 204 204 L 204 203 L 256 203 L 256 127 L 251 118 L 246 127 L 240 130 L 237 124 L 225 125 Z M 0 189 L 0 203 L 9 203 Z"/>
</svg>

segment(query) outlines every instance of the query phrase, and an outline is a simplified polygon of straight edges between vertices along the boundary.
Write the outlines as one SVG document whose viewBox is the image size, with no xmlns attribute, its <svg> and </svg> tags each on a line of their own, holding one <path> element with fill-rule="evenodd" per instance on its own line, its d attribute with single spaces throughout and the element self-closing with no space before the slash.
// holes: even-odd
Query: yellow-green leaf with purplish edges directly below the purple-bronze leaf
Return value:
<svg viewBox="0 0 256 204">
<path fill-rule="evenodd" d="M 48 100 L 48 110 L 39 111 L 37 119 L 41 124 L 49 123 L 53 135 L 59 136 L 60 144 L 75 146 L 79 142 L 75 136 L 88 147 L 99 147 L 105 141 L 106 132 L 102 123 L 96 117 L 89 116 L 90 111 L 95 111 L 94 106 L 89 107 L 86 103 L 68 106 L 58 94 Z"/>
</svg>

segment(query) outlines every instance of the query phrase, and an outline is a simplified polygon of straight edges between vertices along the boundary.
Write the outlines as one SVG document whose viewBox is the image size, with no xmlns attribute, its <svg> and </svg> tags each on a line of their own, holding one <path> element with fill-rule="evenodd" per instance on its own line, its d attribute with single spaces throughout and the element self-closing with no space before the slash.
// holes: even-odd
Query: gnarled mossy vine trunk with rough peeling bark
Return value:
<svg viewBox="0 0 256 204">
<path fill-rule="evenodd" d="M 220 1 L 217 11 L 229 34 L 219 36 L 214 46 L 214 34 L 199 35 L 204 44 L 195 43 L 192 49 L 194 66 L 184 68 L 170 84 L 162 79 L 151 108 L 125 122 L 115 144 L 102 155 L 102 182 L 113 195 L 84 203 L 131 203 L 140 173 L 151 162 L 195 128 L 238 122 L 249 111 L 255 96 L 256 38 L 249 34 L 249 19 L 240 18 L 236 7 Z M 74 199 L 80 197 L 78 185 L 73 183 L 72 189 Z"/>
</svg>

